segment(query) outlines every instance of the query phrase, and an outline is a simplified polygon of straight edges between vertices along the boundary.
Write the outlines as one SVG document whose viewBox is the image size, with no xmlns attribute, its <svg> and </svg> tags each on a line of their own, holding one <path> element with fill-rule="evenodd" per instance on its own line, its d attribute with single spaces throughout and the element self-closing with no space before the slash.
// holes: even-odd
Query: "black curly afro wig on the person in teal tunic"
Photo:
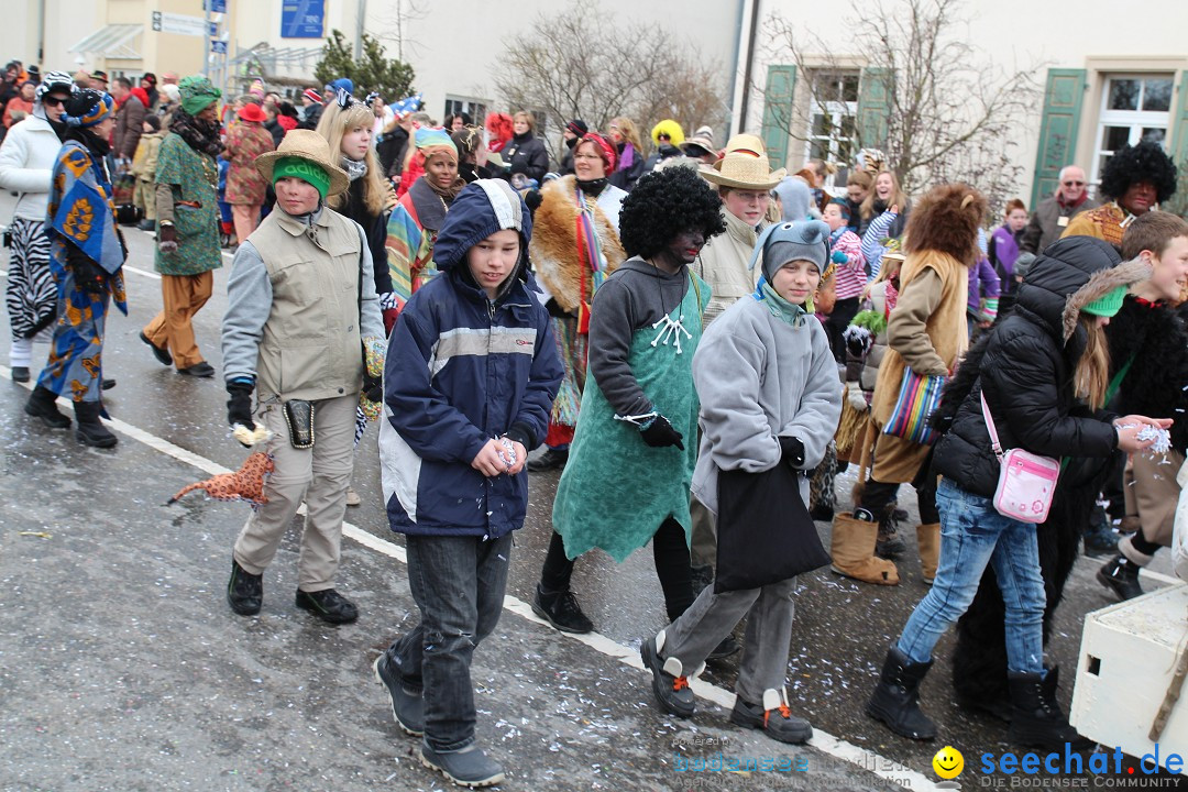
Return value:
<svg viewBox="0 0 1188 792">
<path fill-rule="evenodd" d="M 649 173 L 623 201 L 619 240 L 627 255 L 651 258 L 688 229 L 707 240 L 726 230 L 721 197 L 691 167 Z"/>
</svg>

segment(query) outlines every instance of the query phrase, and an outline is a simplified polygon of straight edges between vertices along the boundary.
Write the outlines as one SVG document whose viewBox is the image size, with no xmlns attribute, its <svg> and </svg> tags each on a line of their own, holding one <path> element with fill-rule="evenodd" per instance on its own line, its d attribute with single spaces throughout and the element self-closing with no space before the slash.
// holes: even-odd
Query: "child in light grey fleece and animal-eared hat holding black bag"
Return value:
<svg viewBox="0 0 1188 792">
<path fill-rule="evenodd" d="M 700 672 L 710 651 L 748 615 L 731 721 L 791 743 L 813 736 L 808 722 L 792 716 L 784 690 L 796 578 L 725 590 L 722 545 L 726 532 L 739 528 L 726 513 L 720 477 L 737 481 L 739 473 L 759 476 L 789 465 L 807 508 L 804 476 L 820 464 L 841 416 L 841 381 L 811 303 L 826 268 L 828 237 L 829 228 L 820 221 L 767 229 L 751 260 L 752 267 L 762 262 L 758 289 L 728 308 L 697 347 L 693 374 L 703 437 L 693 494 L 719 518 L 719 585 L 702 590 L 693 607 L 640 648 L 661 707 L 689 717 L 695 705 L 688 677 Z M 807 525 L 811 531 L 811 522 Z M 775 534 L 790 526 L 763 527 Z M 804 556 L 813 560 L 804 568 L 828 563 L 815 533 L 805 541 Z M 746 571 L 762 578 L 771 563 L 765 547 L 756 546 Z"/>
</svg>

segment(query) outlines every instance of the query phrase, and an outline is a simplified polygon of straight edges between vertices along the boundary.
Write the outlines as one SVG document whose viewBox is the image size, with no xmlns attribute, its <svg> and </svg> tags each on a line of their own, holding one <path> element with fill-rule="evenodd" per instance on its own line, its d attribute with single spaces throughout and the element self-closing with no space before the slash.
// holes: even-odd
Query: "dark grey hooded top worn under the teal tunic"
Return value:
<svg viewBox="0 0 1188 792">
<path fill-rule="evenodd" d="M 631 341 L 636 330 L 651 327 L 662 316 L 671 313 L 684 299 L 690 285 L 687 267 L 669 274 L 639 256 L 632 256 L 594 292 L 587 367 L 617 414 L 642 416 L 651 412 L 652 403 L 644 395 L 627 362 Z M 701 317 L 687 316 L 684 321 L 688 327 L 694 327 Z"/>
</svg>

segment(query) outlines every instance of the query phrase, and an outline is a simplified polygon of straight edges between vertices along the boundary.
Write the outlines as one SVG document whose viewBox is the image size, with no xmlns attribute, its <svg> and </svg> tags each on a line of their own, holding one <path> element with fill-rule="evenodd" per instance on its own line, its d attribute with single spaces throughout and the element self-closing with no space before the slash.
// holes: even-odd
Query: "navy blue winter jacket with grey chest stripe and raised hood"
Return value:
<svg viewBox="0 0 1188 792">
<path fill-rule="evenodd" d="M 504 228 L 520 232 L 522 255 L 492 302 L 469 275 L 466 254 Z M 393 531 L 498 538 L 524 524 L 527 473 L 487 479 L 470 462 L 504 433 L 538 445 L 561 385 L 548 312 L 529 291 L 530 234 L 527 209 L 505 182 L 467 185 L 434 247 L 441 274 L 396 323 L 379 441 Z"/>
</svg>

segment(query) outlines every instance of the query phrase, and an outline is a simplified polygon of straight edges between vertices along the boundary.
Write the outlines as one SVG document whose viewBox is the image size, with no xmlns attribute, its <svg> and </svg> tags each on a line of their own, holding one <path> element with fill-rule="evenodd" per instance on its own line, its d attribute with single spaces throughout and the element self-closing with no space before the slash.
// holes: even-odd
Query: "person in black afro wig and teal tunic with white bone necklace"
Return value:
<svg viewBox="0 0 1188 792">
<path fill-rule="evenodd" d="M 669 620 L 693 604 L 693 355 L 709 286 L 689 265 L 726 229 L 720 213 L 718 194 L 688 167 L 644 176 L 623 202 L 620 239 L 632 258 L 594 292 L 582 410 L 532 602 L 558 629 L 593 629 L 569 587 L 573 559 L 592 547 L 623 562 L 651 540 Z"/>
</svg>

